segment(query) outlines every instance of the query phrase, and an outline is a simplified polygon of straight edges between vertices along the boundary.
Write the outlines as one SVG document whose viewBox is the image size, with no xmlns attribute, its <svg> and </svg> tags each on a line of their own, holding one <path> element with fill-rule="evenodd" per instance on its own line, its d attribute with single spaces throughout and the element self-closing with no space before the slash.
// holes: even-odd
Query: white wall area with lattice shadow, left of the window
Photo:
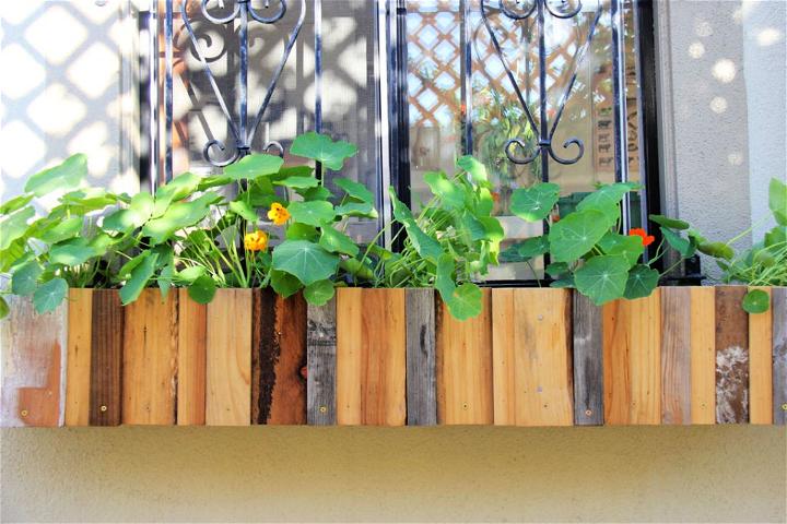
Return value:
<svg viewBox="0 0 787 524">
<path fill-rule="evenodd" d="M 20 193 L 30 175 L 79 152 L 89 154 L 91 182 L 115 191 L 139 188 L 120 167 L 121 120 L 133 124 L 124 107 L 137 104 L 129 98 L 133 93 L 121 93 L 121 48 L 131 44 L 121 2 L 97 3 L 0 7 L 0 199 Z"/>
</svg>

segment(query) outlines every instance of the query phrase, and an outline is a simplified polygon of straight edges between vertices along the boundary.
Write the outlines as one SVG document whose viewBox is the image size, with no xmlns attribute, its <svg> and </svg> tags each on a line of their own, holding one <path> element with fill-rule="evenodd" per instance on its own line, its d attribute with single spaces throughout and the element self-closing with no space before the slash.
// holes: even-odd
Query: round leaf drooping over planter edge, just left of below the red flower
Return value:
<svg viewBox="0 0 787 524">
<path fill-rule="evenodd" d="M 629 278 L 629 261 L 621 254 L 594 257 L 574 272 L 576 288 L 601 306 L 625 291 Z"/>
</svg>

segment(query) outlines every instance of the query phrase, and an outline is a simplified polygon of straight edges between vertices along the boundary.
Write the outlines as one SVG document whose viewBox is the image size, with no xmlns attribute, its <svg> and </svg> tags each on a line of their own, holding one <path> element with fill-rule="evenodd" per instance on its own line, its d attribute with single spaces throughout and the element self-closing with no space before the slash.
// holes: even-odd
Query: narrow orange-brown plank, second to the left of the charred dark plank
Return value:
<svg viewBox="0 0 787 524">
<path fill-rule="evenodd" d="M 205 422 L 208 307 L 178 289 L 177 425 Z M 230 319 L 227 321 L 231 322 Z"/>
</svg>

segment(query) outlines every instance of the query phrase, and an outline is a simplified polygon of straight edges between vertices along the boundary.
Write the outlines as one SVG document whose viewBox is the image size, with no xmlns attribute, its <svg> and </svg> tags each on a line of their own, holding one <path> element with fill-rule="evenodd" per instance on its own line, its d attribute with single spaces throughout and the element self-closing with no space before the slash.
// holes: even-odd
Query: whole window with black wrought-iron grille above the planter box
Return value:
<svg viewBox="0 0 787 524">
<path fill-rule="evenodd" d="M 424 172 L 463 154 L 490 170 L 507 243 L 544 233 L 510 212 L 513 190 L 538 180 L 563 189 L 555 218 L 614 180 L 655 190 L 653 212 L 648 13 L 634 0 L 162 0 L 146 165 L 152 179 L 212 172 L 318 130 L 359 144 L 342 175 L 377 194 L 380 223 L 389 184 L 418 207 Z M 626 205 L 632 227 L 647 194 Z M 543 277 L 542 262 L 510 258 L 491 275 Z"/>
</svg>

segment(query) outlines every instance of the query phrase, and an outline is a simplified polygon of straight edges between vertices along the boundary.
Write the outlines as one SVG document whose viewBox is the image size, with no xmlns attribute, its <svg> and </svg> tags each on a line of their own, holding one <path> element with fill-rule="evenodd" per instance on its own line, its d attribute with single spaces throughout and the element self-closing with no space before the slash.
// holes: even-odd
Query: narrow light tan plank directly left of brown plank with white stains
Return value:
<svg viewBox="0 0 787 524">
<path fill-rule="evenodd" d="M 691 421 L 716 424 L 716 290 L 691 287 Z"/>
</svg>

